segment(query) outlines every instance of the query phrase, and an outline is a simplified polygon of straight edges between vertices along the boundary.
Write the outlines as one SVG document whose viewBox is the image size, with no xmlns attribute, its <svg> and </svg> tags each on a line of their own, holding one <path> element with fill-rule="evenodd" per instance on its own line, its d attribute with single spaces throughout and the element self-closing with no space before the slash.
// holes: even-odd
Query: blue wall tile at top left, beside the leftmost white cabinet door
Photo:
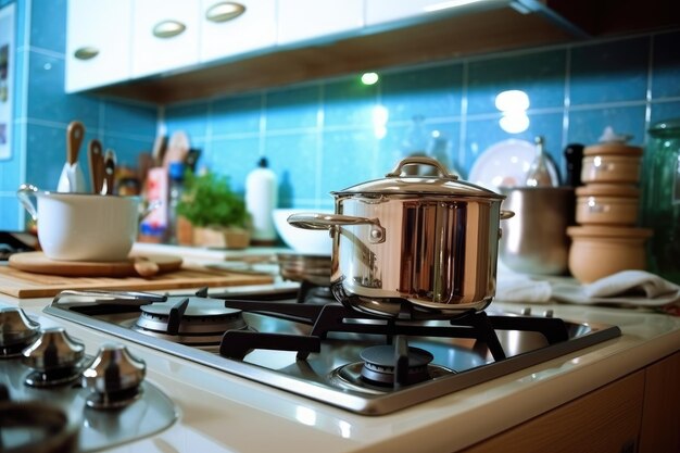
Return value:
<svg viewBox="0 0 680 453">
<path fill-rule="evenodd" d="M 30 0 L 32 48 L 63 53 L 66 47 L 65 30 L 66 0 Z"/>
</svg>

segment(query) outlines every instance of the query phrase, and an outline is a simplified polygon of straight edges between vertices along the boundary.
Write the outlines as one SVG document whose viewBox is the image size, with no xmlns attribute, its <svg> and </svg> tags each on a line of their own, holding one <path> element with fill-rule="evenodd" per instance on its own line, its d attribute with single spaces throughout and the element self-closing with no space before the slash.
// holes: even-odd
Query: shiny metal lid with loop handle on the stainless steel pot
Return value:
<svg viewBox="0 0 680 453">
<path fill-rule="evenodd" d="M 430 165 L 439 175 L 404 175 L 403 168 L 407 165 Z M 451 174 L 441 163 L 435 159 L 411 156 L 403 159 L 394 169 L 382 179 L 374 179 L 347 189 L 331 192 L 333 196 L 342 194 L 431 194 L 455 196 L 464 198 L 477 198 L 487 200 L 503 200 L 505 196 L 491 191 L 471 183 L 458 180 L 456 175 Z"/>
</svg>

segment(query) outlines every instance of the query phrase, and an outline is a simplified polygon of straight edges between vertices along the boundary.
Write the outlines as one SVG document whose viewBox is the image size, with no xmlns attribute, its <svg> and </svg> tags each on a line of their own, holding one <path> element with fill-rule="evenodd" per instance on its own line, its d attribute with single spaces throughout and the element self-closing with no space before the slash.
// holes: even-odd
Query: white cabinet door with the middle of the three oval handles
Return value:
<svg viewBox="0 0 680 453">
<path fill-rule="evenodd" d="M 198 62 L 199 10 L 197 0 L 135 0 L 133 77 Z"/>
</svg>

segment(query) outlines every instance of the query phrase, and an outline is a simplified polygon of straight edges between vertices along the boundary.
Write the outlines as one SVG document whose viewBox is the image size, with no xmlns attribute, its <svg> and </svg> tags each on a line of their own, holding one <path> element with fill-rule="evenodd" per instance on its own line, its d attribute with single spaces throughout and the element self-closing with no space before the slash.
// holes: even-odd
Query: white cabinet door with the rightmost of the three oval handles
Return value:
<svg viewBox="0 0 680 453">
<path fill-rule="evenodd" d="M 201 0 L 202 62 L 276 45 L 276 0 Z"/>
</svg>

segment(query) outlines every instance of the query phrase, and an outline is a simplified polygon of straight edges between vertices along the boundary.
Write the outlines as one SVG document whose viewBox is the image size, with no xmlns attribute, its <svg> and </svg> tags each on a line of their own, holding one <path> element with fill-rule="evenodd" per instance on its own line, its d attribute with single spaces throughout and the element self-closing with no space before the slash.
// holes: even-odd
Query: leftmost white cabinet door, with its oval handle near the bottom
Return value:
<svg viewBox="0 0 680 453">
<path fill-rule="evenodd" d="M 131 0 L 68 0 L 66 92 L 130 77 Z"/>
</svg>

